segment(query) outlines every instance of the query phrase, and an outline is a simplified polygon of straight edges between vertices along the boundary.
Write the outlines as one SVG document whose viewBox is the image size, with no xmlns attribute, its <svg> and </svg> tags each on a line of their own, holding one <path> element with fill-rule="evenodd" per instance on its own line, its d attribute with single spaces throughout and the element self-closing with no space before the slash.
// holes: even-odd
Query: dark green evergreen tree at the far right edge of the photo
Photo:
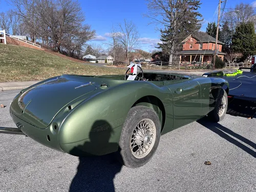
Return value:
<svg viewBox="0 0 256 192">
<path fill-rule="evenodd" d="M 236 27 L 232 38 L 232 50 L 243 54 L 248 59 L 256 53 L 256 34 L 253 23 L 241 23 Z"/>
</svg>

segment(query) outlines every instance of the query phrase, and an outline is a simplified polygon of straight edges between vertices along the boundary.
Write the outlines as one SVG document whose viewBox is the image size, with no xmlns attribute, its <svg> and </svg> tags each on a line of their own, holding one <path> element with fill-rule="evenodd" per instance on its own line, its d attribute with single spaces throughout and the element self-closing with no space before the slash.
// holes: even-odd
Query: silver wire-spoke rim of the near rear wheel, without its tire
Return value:
<svg viewBox="0 0 256 192">
<path fill-rule="evenodd" d="M 156 141 L 156 125 L 151 119 L 142 119 L 134 128 L 130 147 L 134 157 L 147 156 Z"/>
</svg>

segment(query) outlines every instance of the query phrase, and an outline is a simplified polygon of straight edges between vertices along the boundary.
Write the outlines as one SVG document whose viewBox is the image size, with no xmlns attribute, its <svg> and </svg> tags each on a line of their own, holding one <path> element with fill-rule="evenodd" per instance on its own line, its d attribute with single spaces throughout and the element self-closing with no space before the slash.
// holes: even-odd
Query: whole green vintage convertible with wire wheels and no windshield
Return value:
<svg viewBox="0 0 256 192">
<path fill-rule="evenodd" d="M 221 121 L 228 91 L 219 77 L 143 72 L 135 63 L 124 75 L 61 75 L 20 91 L 10 105 L 18 128 L 0 132 L 74 156 L 114 153 L 135 168 L 150 161 L 160 135 L 205 116 Z"/>
</svg>

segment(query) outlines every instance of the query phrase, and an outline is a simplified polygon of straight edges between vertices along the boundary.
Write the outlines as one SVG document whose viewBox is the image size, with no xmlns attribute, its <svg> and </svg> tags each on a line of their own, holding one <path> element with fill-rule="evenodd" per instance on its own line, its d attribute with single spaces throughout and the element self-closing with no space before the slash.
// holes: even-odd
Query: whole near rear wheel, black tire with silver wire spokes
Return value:
<svg viewBox="0 0 256 192">
<path fill-rule="evenodd" d="M 146 106 L 134 106 L 124 121 L 118 156 L 130 168 L 143 166 L 155 154 L 161 134 L 157 113 Z"/>
</svg>

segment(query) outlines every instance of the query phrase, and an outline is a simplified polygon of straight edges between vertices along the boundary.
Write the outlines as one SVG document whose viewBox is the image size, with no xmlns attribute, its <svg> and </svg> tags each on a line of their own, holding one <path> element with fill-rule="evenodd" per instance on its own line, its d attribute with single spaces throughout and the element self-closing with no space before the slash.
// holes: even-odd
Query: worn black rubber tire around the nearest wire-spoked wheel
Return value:
<svg viewBox="0 0 256 192">
<path fill-rule="evenodd" d="M 152 144 L 151 150 L 148 152 L 148 154 L 145 155 L 145 157 L 137 158 L 132 153 L 131 142 L 138 141 L 138 138 L 142 138 L 142 137 L 138 137 L 139 134 L 137 134 L 137 132 L 134 132 L 136 125 L 141 120 L 151 122 L 151 123 L 153 122 L 153 125 L 155 125 L 155 128 L 153 128 L 153 130 L 155 131 L 155 136 L 153 141 L 155 142 L 154 143 L 152 142 L 153 144 Z M 136 135 L 137 139 L 132 140 L 132 135 L 133 136 Z M 122 127 L 122 132 L 121 132 L 120 141 L 119 141 L 119 151 L 118 151 L 119 161 L 124 166 L 130 167 L 130 168 L 137 168 L 137 167 L 143 166 L 148 161 L 150 161 L 153 155 L 155 154 L 160 141 L 160 135 L 161 135 L 161 124 L 160 124 L 157 113 L 151 108 L 148 108 L 146 106 L 134 106 L 133 108 L 131 108 L 131 110 L 127 114 L 127 117 Z M 144 139 L 142 139 L 143 141 L 141 141 L 141 143 L 144 144 L 145 142 L 148 142 L 148 140 L 146 141 L 145 138 L 146 136 L 144 136 Z M 133 146 L 137 147 L 139 145 L 137 143 L 134 143 Z M 133 150 L 136 150 L 136 147 L 134 147 Z"/>
</svg>

